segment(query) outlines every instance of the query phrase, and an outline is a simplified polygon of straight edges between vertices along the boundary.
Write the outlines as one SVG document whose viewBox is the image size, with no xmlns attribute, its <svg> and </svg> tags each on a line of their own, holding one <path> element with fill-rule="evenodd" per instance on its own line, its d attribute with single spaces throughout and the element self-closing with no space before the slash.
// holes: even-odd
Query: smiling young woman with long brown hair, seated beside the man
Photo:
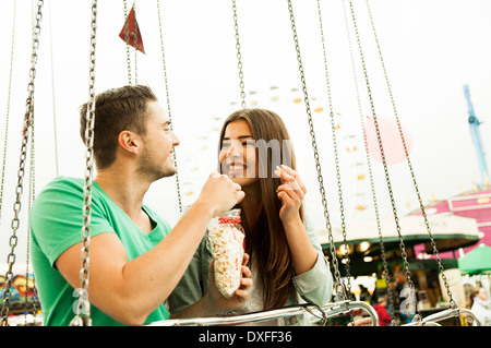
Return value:
<svg viewBox="0 0 491 348">
<path fill-rule="evenodd" d="M 219 171 L 246 193 L 237 207 L 241 209 L 253 286 L 249 301 L 233 313 L 328 302 L 333 278 L 315 232 L 304 220 L 307 189 L 295 170 L 295 154 L 283 120 L 265 109 L 233 112 L 221 128 L 218 159 Z M 171 312 L 181 311 L 206 293 L 212 260 L 206 233 L 169 298 Z M 299 315 L 252 324 L 310 323 Z"/>
</svg>

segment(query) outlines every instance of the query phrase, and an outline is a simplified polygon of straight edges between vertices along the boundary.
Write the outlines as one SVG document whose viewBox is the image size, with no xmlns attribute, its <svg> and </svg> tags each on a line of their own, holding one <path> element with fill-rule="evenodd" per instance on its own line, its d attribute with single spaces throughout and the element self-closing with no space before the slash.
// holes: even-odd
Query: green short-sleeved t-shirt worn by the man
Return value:
<svg viewBox="0 0 491 348">
<path fill-rule="evenodd" d="M 57 178 L 38 194 L 31 211 L 32 262 L 46 326 L 67 326 L 75 316 L 77 295 L 56 269 L 55 262 L 67 249 L 82 241 L 83 190 L 82 179 Z M 155 226 L 149 233 L 144 233 L 95 181 L 91 207 L 91 238 L 105 232 L 118 235 L 129 261 L 149 251 L 170 230 L 167 221 L 143 206 Z M 122 325 L 94 305 L 91 305 L 91 319 L 94 326 Z M 163 303 L 145 324 L 167 319 L 169 311 Z"/>
</svg>

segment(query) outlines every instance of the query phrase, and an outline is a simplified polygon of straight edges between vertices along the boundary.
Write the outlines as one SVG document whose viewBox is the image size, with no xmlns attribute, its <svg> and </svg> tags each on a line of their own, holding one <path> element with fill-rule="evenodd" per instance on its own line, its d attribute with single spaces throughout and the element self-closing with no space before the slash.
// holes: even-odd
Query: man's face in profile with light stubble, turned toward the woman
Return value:
<svg viewBox="0 0 491 348">
<path fill-rule="evenodd" d="M 170 122 L 164 108 L 157 101 L 148 101 L 147 111 L 140 172 L 147 175 L 154 181 L 176 173 L 173 147 L 179 145 L 179 140 L 170 130 Z"/>
</svg>

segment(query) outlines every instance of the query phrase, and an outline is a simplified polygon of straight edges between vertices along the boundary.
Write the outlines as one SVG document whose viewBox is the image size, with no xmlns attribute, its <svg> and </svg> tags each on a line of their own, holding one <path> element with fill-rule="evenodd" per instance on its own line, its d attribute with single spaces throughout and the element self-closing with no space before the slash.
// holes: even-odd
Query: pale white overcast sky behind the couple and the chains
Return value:
<svg viewBox="0 0 491 348">
<path fill-rule="evenodd" d="M 133 2 L 127 2 L 130 9 Z M 4 20 L 0 23 L 4 37 L 0 51 L 0 144 L 4 144 L 5 139 L 8 144 L 0 217 L 0 264 L 7 261 L 10 251 L 32 47 L 32 3 L 16 1 L 12 36 L 13 3 L 3 1 Z M 134 82 L 136 67 L 137 82 L 149 85 L 170 110 L 173 131 L 181 142 L 176 149 L 180 196 L 182 204 L 189 205 L 216 168 L 221 122 L 240 108 L 232 5 L 231 1 L 225 0 L 160 0 L 159 4 L 169 96 L 167 98 L 155 1 L 136 2 L 145 55 L 139 52 L 135 64 L 135 52 L 131 49 L 132 80 Z M 346 0 L 345 7 L 343 4 L 342 0 L 321 1 L 326 74 L 318 3 L 313 0 L 292 1 L 333 225 L 343 219 L 340 206 L 346 221 L 374 218 L 362 136 L 371 106 L 349 2 Z M 395 123 L 394 108 L 367 3 L 355 0 L 352 5 L 375 112 L 381 124 L 391 125 Z M 344 9 L 348 11 L 348 23 Z M 432 200 L 445 200 L 472 190 L 472 182 L 480 183 L 481 179 L 463 86 L 469 85 L 476 116 L 482 123 L 480 133 L 490 164 L 491 141 L 487 134 L 490 134 L 491 123 L 491 2 L 374 0 L 370 1 L 370 13 L 397 117 L 410 145 L 410 164 L 422 202 L 429 204 Z M 247 105 L 271 109 L 285 120 L 297 153 L 298 171 L 308 188 L 308 213 L 318 229 L 325 229 L 287 1 L 237 0 L 237 20 Z M 79 107 L 88 100 L 89 25 L 89 1 L 45 1 L 35 77 L 36 192 L 58 175 L 83 177 L 85 172 Z M 123 25 L 122 1 L 99 1 L 96 93 L 128 84 L 125 44 L 118 36 Z M 5 123 L 7 115 L 9 124 Z M 370 159 L 380 214 L 391 216 L 393 209 L 384 167 L 373 157 Z M 388 164 L 387 170 L 399 216 L 417 209 L 418 196 L 407 160 Z M 360 179 L 363 176 L 364 179 Z M 15 248 L 19 263 L 25 261 L 26 254 L 28 177 L 24 187 L 19 245 Z M 176 224 L 179 204 L 175 178 L 155 182 L 145 203 Z M 347 233 L 349 238 L 349 231 Z"/>
</svg>

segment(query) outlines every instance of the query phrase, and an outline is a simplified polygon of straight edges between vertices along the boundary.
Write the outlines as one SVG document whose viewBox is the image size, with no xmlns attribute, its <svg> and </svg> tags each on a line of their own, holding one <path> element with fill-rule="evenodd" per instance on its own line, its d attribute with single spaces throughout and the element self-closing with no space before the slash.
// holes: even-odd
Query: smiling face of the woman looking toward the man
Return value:
<svg viewBox="0 0 491 348">
<path fill-rule="evenodd" d="M 227 124 L 219 153 L 221 173 L 241 187 L 259 181 L 255 140 L 246 120 Z"/>
</svg>

